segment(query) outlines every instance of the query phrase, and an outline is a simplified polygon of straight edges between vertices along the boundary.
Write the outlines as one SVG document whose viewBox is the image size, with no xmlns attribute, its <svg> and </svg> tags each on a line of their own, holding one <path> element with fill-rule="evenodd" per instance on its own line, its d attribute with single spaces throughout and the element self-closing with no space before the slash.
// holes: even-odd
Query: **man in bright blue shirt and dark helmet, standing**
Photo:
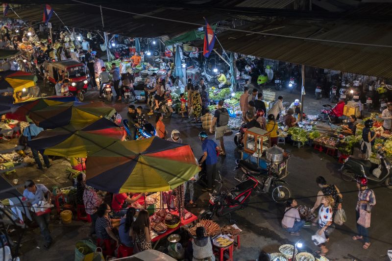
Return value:
<svg viewBox="0 0 392 261">
<path fill-rule="evenodd" d="M 208 139 L 208 134 L 205 131 L 199 133 L 199 139 L 201 141 L 201 148 L 203 149 L 203 157 L 199 161 L 199 166 L 202 166 L 205 163 L 208 181 L 207 188 L 204 188 L 201 191 L 211 191 L 212 187 L 215 187 L 213 182 L 215 181 L 217 171 L 217 151 L 221 151 L 221 148 L 213 140 Z"/>
</svg>

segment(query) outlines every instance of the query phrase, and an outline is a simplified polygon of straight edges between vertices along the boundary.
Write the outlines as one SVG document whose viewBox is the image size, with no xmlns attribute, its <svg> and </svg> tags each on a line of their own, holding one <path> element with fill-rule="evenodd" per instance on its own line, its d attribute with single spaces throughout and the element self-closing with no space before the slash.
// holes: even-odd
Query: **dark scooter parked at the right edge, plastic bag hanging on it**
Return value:
<svg viewBox="0 0 392 261">
<path fill-rule="evenodd" d="M 344 181 L 353 181 L 358 177 L 366 177 L 375 183 L 384 183 L 387 188 L 392 189 L 391 164 L 385 158 L 383 152 L 379 152 L 380 164 L 371 163 L 349 157 L 345 159 L 341 167 L 341 176 Z"/>
</svg>

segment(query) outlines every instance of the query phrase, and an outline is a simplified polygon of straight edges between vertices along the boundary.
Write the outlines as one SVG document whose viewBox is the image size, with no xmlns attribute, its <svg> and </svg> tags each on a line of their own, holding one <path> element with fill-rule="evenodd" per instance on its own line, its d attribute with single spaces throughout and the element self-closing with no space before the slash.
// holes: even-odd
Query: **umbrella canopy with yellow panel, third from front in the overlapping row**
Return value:
<svg viewBox="0 0 392 261">
<path fill-rule="evenodd" d="M 37 126 L 47 129 L 65 126 L 69 123 L 86 123 L 102 117 L 112 117 L 116 110 L 104 106 L 101 102 L 81 104 L 78 102 L 64 102 L 49 106 L 41 110 L 30 112 L 28 117 Z"/>
</svg>

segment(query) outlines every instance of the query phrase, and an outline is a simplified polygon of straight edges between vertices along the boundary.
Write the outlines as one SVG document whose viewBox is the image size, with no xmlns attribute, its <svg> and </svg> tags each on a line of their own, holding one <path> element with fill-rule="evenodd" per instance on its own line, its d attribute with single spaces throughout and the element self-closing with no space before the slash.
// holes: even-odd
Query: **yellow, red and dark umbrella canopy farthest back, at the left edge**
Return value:
<svg viewBox="0 0 392 261">
<path fill-rule="evenodd" d="M 37 76 L 25 71 L 0 71 L 0 92 L 15 93 L 35 86 Z"/>
</svg>

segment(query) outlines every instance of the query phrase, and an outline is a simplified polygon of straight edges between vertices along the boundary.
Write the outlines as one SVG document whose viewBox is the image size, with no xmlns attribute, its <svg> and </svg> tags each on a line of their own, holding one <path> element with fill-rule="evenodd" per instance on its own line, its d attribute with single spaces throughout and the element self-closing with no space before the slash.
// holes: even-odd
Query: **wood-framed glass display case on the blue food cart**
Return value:
<svg viewBox="0 0 392 261">
<path fill-rule="evenodd" d="M 249 154 L 258 154 L 261 157 L 263 152 L 270 147 L 270 134 L 263 129 L 252 127 L 245 130 L 244 150 Z"/>
</svg>

